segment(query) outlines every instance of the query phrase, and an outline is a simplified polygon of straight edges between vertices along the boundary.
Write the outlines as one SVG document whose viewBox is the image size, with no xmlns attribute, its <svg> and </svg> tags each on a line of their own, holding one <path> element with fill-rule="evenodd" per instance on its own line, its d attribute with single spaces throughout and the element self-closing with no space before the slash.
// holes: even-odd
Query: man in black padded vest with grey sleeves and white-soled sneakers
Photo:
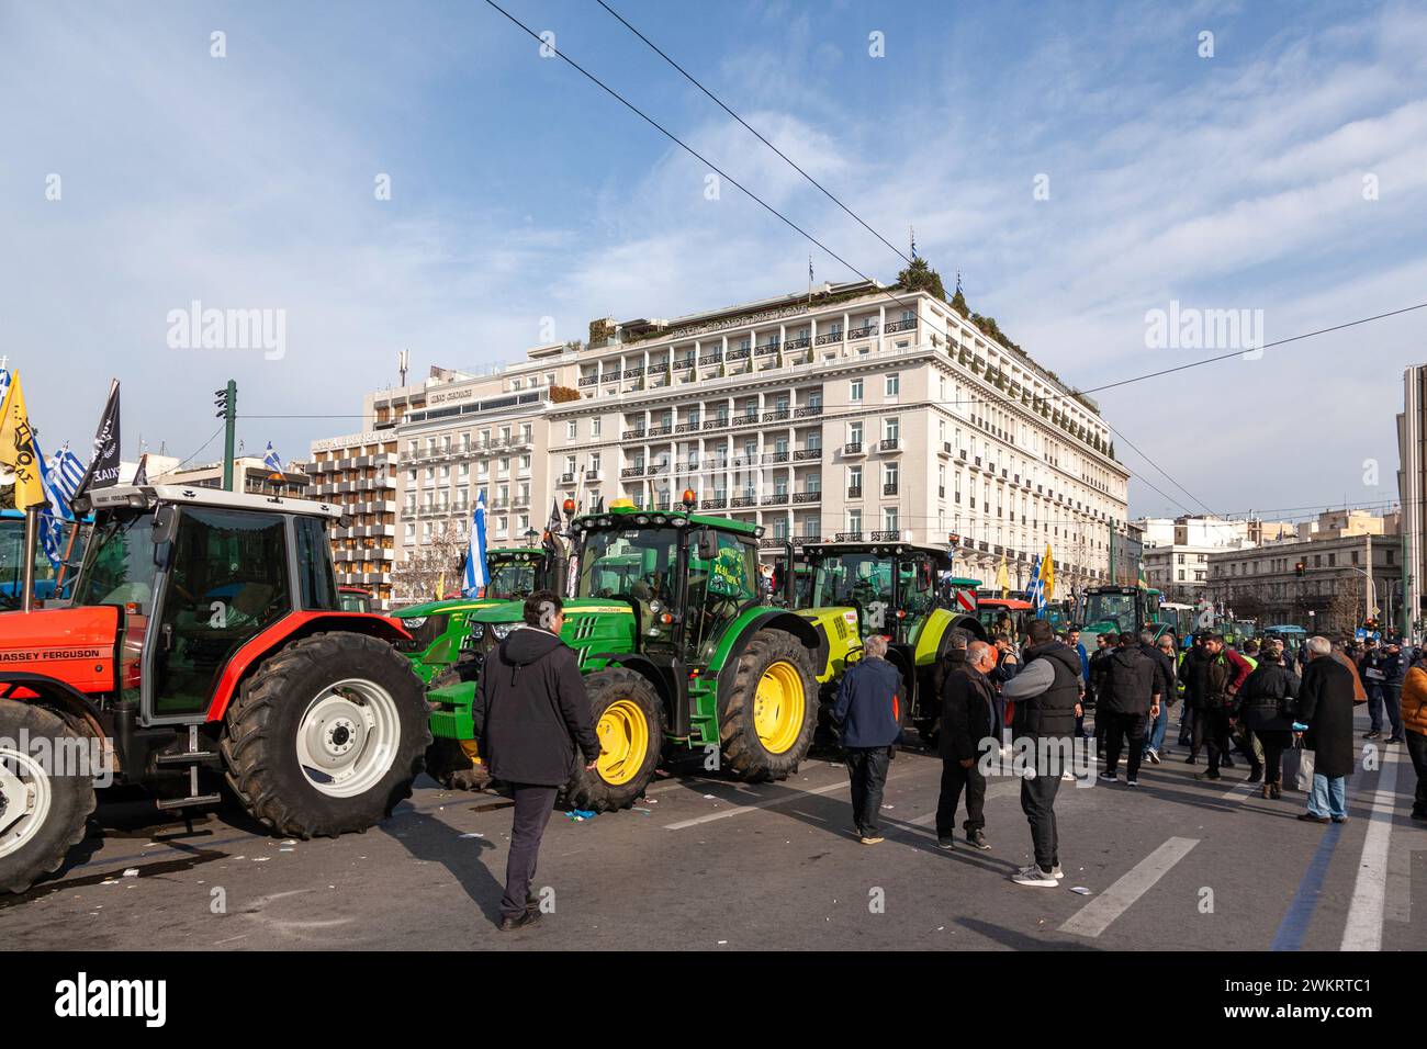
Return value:
<svg viewBox="0 0 1427 1049">
<path fill-rule="evenodd" d="M 1075 746 L 1080 657 L 1055 639 L 1045 619 L 1032 621 L 1027 635 L 1030 645 L 1022 654 L 1022 669 L 1006 682 L 1003 694 L 1016 701 L 1016 736 L 1030 746 L 1030 768 L 1020 781 L 1020 809 L 1030 824 L 1036 862 L 1012 875 L 1012 881 L 1053 889 L 1065 878 L 1055 806 L 1060 774 L 1069 771 Z"/>
</svg>

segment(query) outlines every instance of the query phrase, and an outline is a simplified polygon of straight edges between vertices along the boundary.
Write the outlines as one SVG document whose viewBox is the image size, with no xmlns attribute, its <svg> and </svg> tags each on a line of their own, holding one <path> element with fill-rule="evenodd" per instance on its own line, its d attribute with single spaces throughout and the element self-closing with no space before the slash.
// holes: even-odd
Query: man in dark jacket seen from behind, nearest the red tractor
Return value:
<svg viewBox="0 0 1427 1049">
<path fill-rule="evenodd" d="M 599 738 L 575 652 L 559 639 L 564 604 L 554 591 L 525 598 L 525 625 L 509 632 L 481 668 L 471 718 L 491 778 L 515 798 L 511 852 L 505 861 L 501 929 L 539 918 L 531 879 L 555 795 L 575 772 L 575 748 L 585 768 L 599 758 Z"/>
</svg>

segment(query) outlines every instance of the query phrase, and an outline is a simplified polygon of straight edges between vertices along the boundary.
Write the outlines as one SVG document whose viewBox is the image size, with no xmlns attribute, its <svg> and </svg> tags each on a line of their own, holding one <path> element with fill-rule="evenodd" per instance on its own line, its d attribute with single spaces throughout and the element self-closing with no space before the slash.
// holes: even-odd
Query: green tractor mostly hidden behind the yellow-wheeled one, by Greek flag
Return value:
<svg viewBox="0 0 1427 1049">
<path fill-rule="evenodd" d="M 471 676 L 471 652 L 484 629 L 471 624 L 472 614 L 564 585 L 565 564 L 558 544 L 489 549 L 485 568 L 489 582 L 479 598 L 427 601 L 392 612 L 411 632 L 411 641 L 398 648 L 411 659 L 417 676 L 432 688 Z"/>
</svg>

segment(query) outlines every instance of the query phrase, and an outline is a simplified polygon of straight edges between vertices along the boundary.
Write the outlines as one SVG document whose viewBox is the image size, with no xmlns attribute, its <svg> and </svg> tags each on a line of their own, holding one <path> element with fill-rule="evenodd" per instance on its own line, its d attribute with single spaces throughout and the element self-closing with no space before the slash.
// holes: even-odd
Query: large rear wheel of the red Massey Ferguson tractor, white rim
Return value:
<svg viewBox="0 0 1427 1049">
<path fill-rule="evenodd" d="M 427 716 L 421 679 L 391 645 L 314 634 L 268 657 L 228 706 L 228 786 L 277 833 L 365 831 L 411 795 Z"/>
</svg>

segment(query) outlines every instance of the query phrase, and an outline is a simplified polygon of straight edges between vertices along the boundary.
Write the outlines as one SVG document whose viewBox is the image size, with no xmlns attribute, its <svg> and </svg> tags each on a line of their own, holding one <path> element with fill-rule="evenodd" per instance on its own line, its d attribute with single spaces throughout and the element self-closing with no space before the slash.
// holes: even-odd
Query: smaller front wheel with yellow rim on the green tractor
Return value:
<svg viewBox="0 0 1427 1049">
<path fill-rule="evenodd" d="M 611 667 L 585 678 L 585 692 L 599 736 L 594 771 L 579 759 L 565 788 L 571 808 L 626 809 L 644 796 L 664 749 L 664 704 L 649 679 Z"/>
</svg>

